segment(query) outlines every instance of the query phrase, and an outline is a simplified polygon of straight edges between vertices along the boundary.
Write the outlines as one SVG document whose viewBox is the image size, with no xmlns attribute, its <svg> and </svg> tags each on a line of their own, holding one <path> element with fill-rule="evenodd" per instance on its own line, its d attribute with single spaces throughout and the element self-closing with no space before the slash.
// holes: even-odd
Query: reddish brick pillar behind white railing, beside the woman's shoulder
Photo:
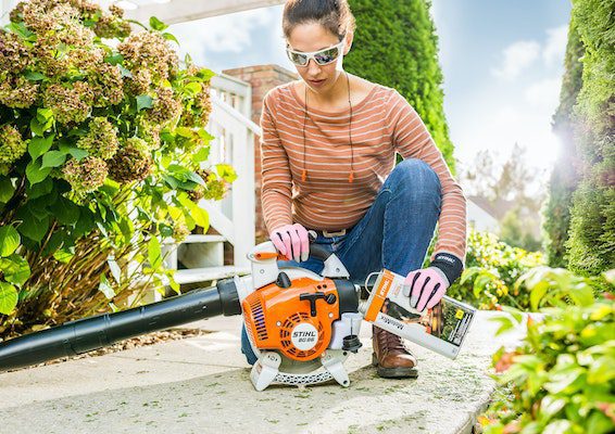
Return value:
<svg viewBox="0 0 615 434">
<path fill-rule="evenodd" d="M 299 76 L 278 65 L 255 65 L 225 69 L 224 74 L 239 78 L 252 86 L 252 122 L 259 124 L 263 111 L 263 99 L 273 88 L 296 80 Z M 256 243 L 267 237 L 261 206 L 261 146 L 259 138 L 254 143 L 254 183 L 256 193 Z"/>
</svg>

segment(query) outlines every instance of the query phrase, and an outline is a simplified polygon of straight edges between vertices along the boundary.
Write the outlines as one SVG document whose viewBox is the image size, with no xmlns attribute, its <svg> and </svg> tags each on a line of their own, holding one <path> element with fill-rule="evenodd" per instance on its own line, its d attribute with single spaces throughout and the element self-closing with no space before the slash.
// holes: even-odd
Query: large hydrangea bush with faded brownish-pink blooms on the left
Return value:
<svg viewBox="0 0 615 434">
<path fill-rule="evenodd" d="M 205 230 L 213 73 L 176 39 L 87 0 L 20 3 L 0 29 L 0 335 L 161 285 L 161 240 Z M 131 26 L 134 24 L 134 26 Z M 7 241 L 9 240 L 9 241 Z M 146 264 L 147 267 L 135 267 Z M 15 270 L 17 278 L 15 278 Z"/>
</svg>

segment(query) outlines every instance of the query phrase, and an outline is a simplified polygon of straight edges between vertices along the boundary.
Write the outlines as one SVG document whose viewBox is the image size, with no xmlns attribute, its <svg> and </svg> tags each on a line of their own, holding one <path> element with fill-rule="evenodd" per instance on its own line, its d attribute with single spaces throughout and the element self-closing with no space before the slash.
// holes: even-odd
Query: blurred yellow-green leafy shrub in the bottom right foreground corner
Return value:
<svg viewBox="0 0 615 434">
<path fill-rule="evenodd" d="M 532 270 L 524 280 L 537 305 L 556 307 L 542 309 L 542 320 L 528 318 L 519 347 L 493 356 L 501 388 L 479 417 L 485 433 L 612 433 L 615 270 L 604 276 L 608 292 L 598 297 L 585 278 L 566 270 Z M 501 322 L 501 331 L 513 327 L 510 319 Z"/>
</svg>

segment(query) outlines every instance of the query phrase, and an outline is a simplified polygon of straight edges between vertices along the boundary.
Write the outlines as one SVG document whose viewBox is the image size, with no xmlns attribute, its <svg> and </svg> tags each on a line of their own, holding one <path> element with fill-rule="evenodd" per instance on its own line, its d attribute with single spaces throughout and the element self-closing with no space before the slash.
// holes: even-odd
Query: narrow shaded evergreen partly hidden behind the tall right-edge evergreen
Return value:
<svg viewBox="0 0 615 434">
<path fill-rule="evenodd" d="M 543 209 L 544 251 L 550 267 L 566 267 L 566 247 L 570 228 L 573 192 L 578 184 L 579 161 L 573 138 L 573 107 L 581 88 L 583 44 L 570 18 L 568 43 L 564 60 L 564 77 L 560 92 L 560 106 L 553 115 L 553 131 L 562 149 L 549 182 L 549 199 Z"/>
</svg>

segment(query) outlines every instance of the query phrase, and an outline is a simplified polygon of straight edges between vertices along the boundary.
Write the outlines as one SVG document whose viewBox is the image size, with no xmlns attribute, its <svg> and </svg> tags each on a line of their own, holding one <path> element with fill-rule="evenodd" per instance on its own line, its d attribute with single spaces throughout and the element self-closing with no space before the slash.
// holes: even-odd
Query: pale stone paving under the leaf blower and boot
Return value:
<svg viewBox="0 0 615 434">
<path fill-rule="evenodd" d="M 351 385 L 255 392 L 239 350 L 240 317 L 184 327 L 211 333 L 0 374 L 0 433 L 470 433 L 494 382 L 494 336 L 479 311 L 450 360 L 414 344 L 418 379 L 385 380 L 371 366 L 371 328 L 346 366 Z"/>
</svg>

